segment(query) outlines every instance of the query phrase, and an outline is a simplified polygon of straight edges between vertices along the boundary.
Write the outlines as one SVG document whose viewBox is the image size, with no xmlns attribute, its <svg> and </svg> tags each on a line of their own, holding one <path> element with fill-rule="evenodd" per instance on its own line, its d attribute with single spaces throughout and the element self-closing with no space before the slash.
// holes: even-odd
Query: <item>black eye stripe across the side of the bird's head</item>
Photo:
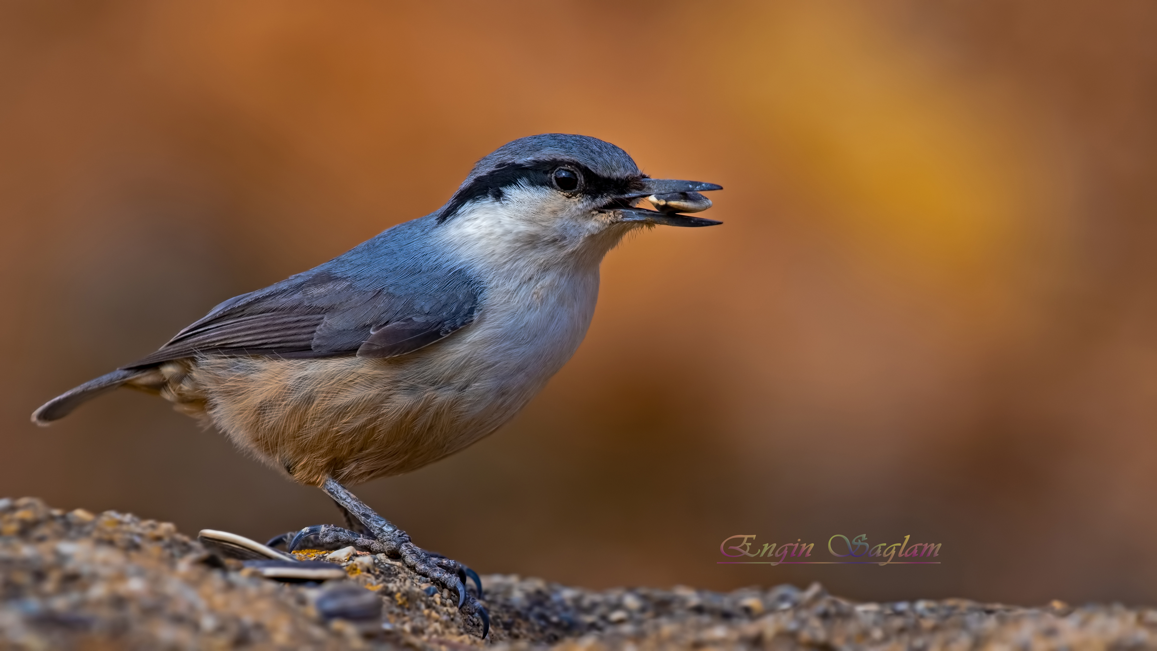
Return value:
<svg viewBox="0 0 1157 651">
<path fill-rule="evenodd" d="M 506 163 L 474 178 L 469 185 L 458 190 L 439 214 L 437 221 L 441 224 L 450 219 L 462 206 L 479 197 L 488 196 L 499 200 L 502 198 L 503 188 L 518 183 L 531 186 L 559 188 L 554 181 L 554 170 L 560 167 L 577 173 L 582 177 L 578 191 L 590 197 L 610 197 L 635 191 L 639 189 L 639 181 L 643 178 L 642 175 L 631 178 L 599 176 L 589 167 L 569 160 Z"/>
</svg>

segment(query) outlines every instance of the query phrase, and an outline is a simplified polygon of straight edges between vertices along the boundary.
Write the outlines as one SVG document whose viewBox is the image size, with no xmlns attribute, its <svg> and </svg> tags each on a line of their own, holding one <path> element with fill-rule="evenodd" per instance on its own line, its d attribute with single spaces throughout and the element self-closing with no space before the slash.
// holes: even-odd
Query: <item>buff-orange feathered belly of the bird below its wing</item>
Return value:
<svg viewBox="0 0 1157 651">
<path fill-rule="evenodd" d="M 503 390 L 485 378 L 441 381 L 429 368 L 412 359 L 200 357 L 165 364 L 135 383 L 299 482 L 356 484 L 466 447 L 538 388 Z"/>
</svg>

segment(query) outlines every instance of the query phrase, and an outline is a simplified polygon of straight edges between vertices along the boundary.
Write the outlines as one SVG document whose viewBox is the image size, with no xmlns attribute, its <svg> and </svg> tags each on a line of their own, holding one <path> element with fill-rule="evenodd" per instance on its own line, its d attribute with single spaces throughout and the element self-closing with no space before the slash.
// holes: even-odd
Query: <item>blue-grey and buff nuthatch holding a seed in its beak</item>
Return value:
<svg viewBox="0 0 1157 651">
<path fill-rule="evenodd" d="M 159 394 L 345 510 L 347 527 L 304 527 L 288 550 L 316 539 L 400 558 L 455 591 L 485 637 L 487 612 L 465 588 L 469 576 L 481 595 L 477 573 L 413 544 L 346 485 L 415 470 L 508 422 L 585 336 L 607 251 L 640 228 L 721 224 L 685 214 L 721 189 L 651 178 L 589 136 L 513 140 L 439 210 L 218 305 L 32 422 L 119 387 Z"/>
</svg>

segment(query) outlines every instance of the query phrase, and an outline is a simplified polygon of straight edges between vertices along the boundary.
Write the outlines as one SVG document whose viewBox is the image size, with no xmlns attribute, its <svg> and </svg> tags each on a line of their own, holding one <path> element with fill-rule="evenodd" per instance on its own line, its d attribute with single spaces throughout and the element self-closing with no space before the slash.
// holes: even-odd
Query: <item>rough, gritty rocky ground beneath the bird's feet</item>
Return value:
<svg viewBox="0 0 1157 651">
<path fill-rule="evenodd" d="M 482 579 L 484 641 L 454 595 L 400 563 L 349 550 L 330 562 L 345 579 L 279 583 L 169 522 L 0 499 L 0 649 L 1157 648 L 1149 608 L 856 604 L 818 584 L 591 592 L 500 575 Z"/>
</svg>

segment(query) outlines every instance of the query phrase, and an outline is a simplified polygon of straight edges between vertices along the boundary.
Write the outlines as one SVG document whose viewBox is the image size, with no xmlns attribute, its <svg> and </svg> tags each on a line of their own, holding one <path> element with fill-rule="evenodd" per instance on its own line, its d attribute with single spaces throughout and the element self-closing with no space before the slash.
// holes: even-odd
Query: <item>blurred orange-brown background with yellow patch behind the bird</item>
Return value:
<svg viewBox="0 0 1157 651">
<path fill-rule="evenodd" d="M 723 184 L 724 226 L 612 251 L 515 422 L 362 498 L 481 572 L 590 587 L 1152 602 L 1154 34 L 1147 0 L 5 2 L 0 495 L 334 521 L 163 401 L 28 417 L 503 142 L 584 133 Z M 751 533 L 943 564 L 715 563 Z"/>
</svg>

